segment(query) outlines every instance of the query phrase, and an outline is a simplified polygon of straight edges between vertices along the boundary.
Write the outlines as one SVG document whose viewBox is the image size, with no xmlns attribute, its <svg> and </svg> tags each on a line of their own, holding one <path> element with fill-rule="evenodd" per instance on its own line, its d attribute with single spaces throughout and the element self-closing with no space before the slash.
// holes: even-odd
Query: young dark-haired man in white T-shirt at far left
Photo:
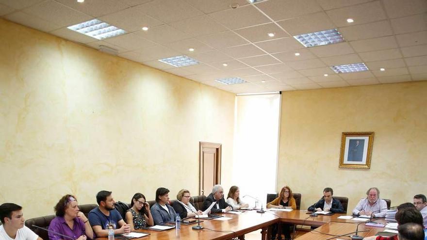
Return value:
<svg viewBox="0 0 427 240">
<path fill-rule="evenodd" d="M 14 203 L 0 205 L 0 239 L 1 240 L 42 240 L 24 225 L 22 207 Z"/>
</svg>

